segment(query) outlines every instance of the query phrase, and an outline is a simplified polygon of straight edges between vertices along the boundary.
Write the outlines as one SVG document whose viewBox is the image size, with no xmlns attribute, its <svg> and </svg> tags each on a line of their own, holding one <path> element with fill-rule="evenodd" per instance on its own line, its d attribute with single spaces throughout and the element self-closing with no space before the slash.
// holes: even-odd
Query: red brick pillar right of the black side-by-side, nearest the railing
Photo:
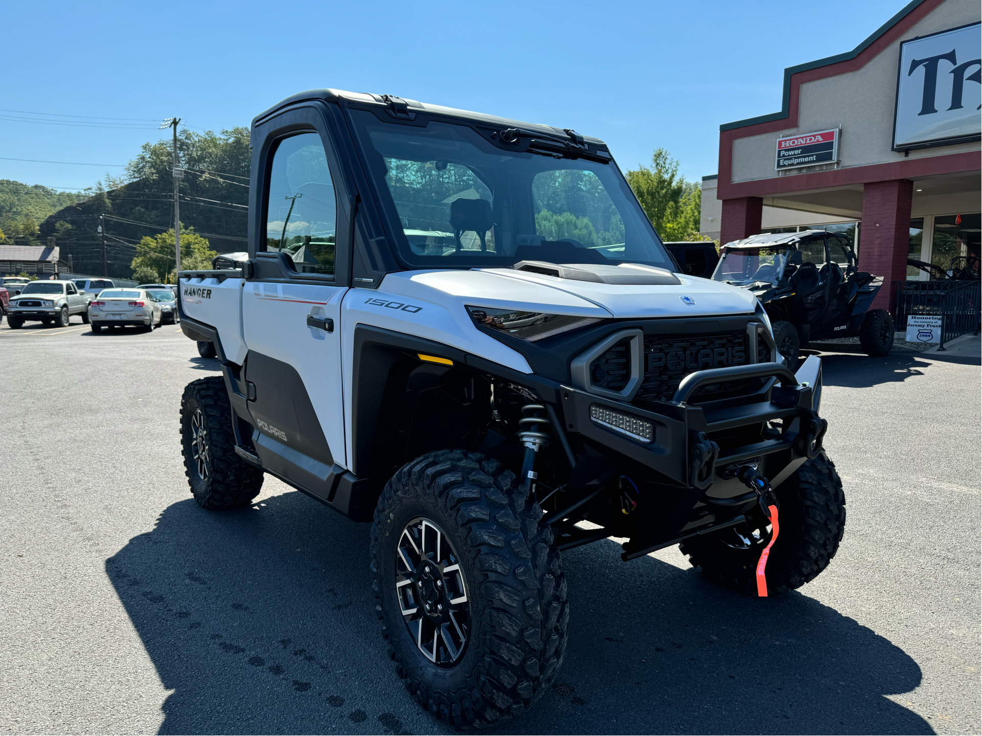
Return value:
<svg viewBox="0 0 982 736">
<path fill-rule="evenodd" d="M 862 226 L 859 231 L 859 268 L 883 277 L 883 288 L 871 309 L 894 310 L 894 282 L 907 278 L 907 243 L 910 239 L 910 200 L 913 182 L 863 184 Z"/>
</svg>

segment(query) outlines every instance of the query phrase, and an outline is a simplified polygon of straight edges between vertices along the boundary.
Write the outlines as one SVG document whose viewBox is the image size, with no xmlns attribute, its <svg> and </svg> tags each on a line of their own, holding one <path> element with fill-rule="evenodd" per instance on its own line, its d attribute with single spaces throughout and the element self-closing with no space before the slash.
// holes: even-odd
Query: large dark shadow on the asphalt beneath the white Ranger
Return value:
<svg viewBox="0 0 982 736">
<path fill-rule="evenodd" d="M 515 733 L 932 733 L 884 697 L 921 679 L 805 594 L 752 599 L 604 541 L 565 555 L 566 661 Z M 386 655 L 368 525 L 290 492 L 182 500 L 106 561 L 164 688 L 160 733 L 447 732 Z M 835 565 L 835 562 L 833 562 Z"/>
</svg>

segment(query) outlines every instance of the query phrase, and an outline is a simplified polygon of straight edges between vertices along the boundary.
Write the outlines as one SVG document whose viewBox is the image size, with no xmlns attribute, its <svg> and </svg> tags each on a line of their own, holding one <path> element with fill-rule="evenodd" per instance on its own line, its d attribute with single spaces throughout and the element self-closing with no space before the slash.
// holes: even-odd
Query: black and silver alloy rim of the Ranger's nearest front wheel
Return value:
<svg viewBox="0 0 982 736">
<path fill-rule="evenodd" d="M 396 596 L 416 647 L 438 667 L 464 655 L 470 605 L 461 558 L 432 520 L 409 521 L 396 548 Z"/>
</svg>

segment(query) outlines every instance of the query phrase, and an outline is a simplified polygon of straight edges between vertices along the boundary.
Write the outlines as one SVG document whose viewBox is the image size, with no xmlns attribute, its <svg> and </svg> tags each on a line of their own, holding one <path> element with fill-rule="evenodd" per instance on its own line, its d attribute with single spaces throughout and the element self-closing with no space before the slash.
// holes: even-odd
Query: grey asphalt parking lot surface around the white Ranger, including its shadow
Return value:
<svg viewBox="0 0 982 736">
<path fill-rule="evenodd" d="M 749 599 L 677 549 L 568 552 L 557 684 L 510 733 L 979 733 L 979 359 L 825 354 L 846 537 Z M 432 733 L 385 656 L 368 526 L 267 478 L 200 509 L 179 327 L 0 325 L 0 731 Z"/>
</svg>

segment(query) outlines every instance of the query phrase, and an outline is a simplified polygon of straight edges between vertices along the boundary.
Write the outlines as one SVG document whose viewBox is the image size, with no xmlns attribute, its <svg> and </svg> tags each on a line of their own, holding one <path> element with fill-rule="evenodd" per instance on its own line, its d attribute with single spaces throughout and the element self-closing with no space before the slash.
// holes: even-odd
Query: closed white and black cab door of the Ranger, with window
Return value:
<svg viewBox="0 0 982 736">
<path fill-rule="evenodd" d="M 266 126 L 252 163 L 265 175 L 242 315 L 253 445 L 266 468 L 330 499 L 346 454 L 340 317 L 349 259 L 338 248 L 339 175 L 324 120 L 301 108 Z"/>
</svg>

